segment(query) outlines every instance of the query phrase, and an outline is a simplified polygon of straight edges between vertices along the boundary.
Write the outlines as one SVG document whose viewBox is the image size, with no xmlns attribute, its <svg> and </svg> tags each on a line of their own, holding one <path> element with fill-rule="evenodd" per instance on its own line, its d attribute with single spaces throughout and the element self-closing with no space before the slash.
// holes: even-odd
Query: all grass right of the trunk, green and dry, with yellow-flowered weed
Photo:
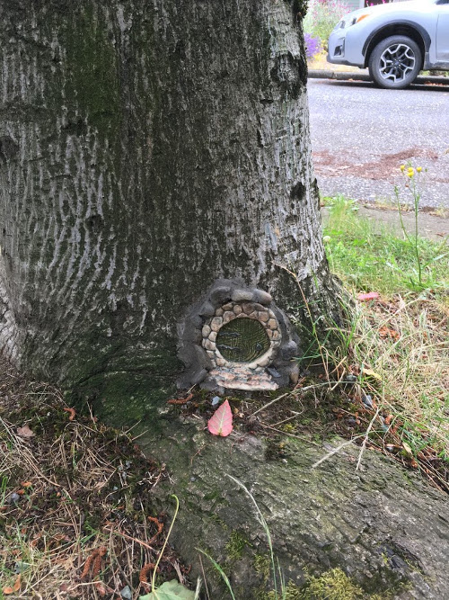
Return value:
<svg viewBox="0 0 449 600">
<path fill-rule="evenodd" d="M 415 173 L 409 173 L 413 184 Z M 385 449 L 382 439 L 391 425 L 405 455 L 418 459 L 411 462 L 446 488 L 435 470 L 438 461 L 449 465 L 446 240 L 436 244 L 419 237 L 418 191 L 411 193 L 415 228 L 409 234 L 400 221 L 401 237 L 359 217 L 355 201 L 342 196 L 326 201 L 330 214 L 324 239 L 331 270 L 353 293 L 381 293 L 380 300 L 351 308 L 346 329 L 335 327 L 341 345 L 328 361 L 358 373 L 362 395 L 369 392 L 380 412 L 392 416 L 388 427 L 382 416 L 374 419 L 372 434 L 378 435 L 380 447 Z M 376 379 L 365 376 L 366 370 Z"/>
</svg>

